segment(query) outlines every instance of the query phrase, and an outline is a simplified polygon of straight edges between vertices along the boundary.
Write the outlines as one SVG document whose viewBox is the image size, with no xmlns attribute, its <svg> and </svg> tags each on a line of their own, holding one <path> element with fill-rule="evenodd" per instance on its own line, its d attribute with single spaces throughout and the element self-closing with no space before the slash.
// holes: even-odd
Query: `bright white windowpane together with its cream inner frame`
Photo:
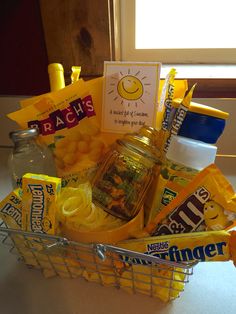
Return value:
<svg viewBox="0 0 236 314">
<path fill-rule="evenodd" d="M 120 0 L 121 58 L 236 63 L 235 0 Z"/>
</svg>

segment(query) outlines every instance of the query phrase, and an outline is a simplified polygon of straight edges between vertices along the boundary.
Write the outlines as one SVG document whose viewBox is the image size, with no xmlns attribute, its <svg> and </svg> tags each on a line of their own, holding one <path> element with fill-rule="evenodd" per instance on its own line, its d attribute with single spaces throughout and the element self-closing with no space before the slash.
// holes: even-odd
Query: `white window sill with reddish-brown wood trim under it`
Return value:
<svg viewBox="0 0 236 314">
<path fill-rule="evenodd" d="M 163 64 L 161 78 L 177 70 L 176 79 L 187 79 L 189 87 L 197 83 L 194 98 L 236 98 L 236 65 Z"/>
</svg>

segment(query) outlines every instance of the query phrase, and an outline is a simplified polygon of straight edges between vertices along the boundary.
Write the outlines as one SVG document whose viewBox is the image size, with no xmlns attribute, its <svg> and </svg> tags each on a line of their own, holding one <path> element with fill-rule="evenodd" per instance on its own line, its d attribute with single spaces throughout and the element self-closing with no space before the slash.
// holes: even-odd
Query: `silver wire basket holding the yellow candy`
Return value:
<svg viewBox="0 0 236 314">
<path fill-rule="evenodd" d="M 46 278 L 83 277 L 103 286 L 170 301 L 179 297 L 197 263 L 176 263 L 102 243 L 7 228 L 0 222 L 1 242 L 28 267 Z"/>
</svg>

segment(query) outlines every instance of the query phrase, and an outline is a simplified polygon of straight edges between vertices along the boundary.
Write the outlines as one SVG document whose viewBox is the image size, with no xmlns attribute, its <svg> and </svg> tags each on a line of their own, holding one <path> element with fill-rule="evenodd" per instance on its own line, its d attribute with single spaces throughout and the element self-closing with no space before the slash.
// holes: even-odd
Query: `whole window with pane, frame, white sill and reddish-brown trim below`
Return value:
<svg viewBox="0 0 236 314">
<path fill-rule="evenodd" d="M 116 60 L 160 61 L 162 77 L 174 66 L 195 97 L 236 97 L 234 0 L 113 3 Z"/>
</svg>

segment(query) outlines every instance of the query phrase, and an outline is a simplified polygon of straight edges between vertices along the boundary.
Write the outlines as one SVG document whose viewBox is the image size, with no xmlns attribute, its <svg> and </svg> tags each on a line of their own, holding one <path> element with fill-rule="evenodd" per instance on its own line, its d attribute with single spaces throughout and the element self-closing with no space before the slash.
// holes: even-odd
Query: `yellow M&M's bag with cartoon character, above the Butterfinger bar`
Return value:
<svg viewBox="0 0 236 314">
<path fill-rule="evenodd" d="M 153 235 L 223 230 L 236 223 L 235 192 L 214 165 L 206 167 L 146 226 Z"/>
</svg>

